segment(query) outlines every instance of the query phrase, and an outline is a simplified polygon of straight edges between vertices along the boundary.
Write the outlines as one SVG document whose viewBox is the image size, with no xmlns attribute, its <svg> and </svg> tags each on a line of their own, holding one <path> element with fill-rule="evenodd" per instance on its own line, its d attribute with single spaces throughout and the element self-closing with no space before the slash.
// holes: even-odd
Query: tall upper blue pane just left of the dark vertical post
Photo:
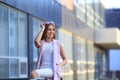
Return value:
<svg viewBox="0 0 120 80">
<path fill-rule="evenodd" d="M 27 57 L 28 53 L 28 35 L 27 35 L 27 16 L 25 14 L 19 14 L 19 26 L 18 26 L 18 36 L 19 36 L 19 54 L 20 57 Z"/>
</svg>

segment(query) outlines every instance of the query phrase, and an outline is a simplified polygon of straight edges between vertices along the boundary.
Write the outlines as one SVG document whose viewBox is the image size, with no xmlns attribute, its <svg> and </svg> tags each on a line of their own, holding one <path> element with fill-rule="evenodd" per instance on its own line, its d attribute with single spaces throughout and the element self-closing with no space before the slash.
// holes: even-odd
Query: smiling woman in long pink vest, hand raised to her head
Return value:
<svg viewBox="0 0 120 80">
<path fill-rule="evenodd" d="M 47 77 L 60 80 L 61 67 L 67 63 L 62 46 L 56 39 L 54 22 L 42 23 L 42 29 L 35 38 L 39 50 L 37 69 L 30 74 L 31 78 Z M 60 57 L 62 62 L 59 61 Z"/>
</svg>

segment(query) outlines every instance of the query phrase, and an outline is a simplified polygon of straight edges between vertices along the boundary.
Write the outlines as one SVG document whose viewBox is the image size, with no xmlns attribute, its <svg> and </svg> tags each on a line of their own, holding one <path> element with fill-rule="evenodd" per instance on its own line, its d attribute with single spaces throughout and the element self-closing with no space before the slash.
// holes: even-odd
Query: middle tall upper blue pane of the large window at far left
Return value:
<svg viewBox="0 0 120 80">
<path fill-rule="evenodd" d="M 10 56 L 18 56 L 18 17 L 17 12 L 10 10 L 10 21 L 9 21 L 9 48 Z"/>
</svg>

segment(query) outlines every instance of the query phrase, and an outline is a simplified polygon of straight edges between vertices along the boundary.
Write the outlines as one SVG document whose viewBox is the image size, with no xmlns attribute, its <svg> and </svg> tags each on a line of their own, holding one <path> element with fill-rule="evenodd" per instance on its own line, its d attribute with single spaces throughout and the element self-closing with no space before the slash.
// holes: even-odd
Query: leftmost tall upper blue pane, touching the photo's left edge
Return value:
<svg viewBox="0 0 120 80">
<path fill-rule="evenodd" d="M 0 56 L 8 56 L 8 11 L 0 5 Z"/>
</svg>

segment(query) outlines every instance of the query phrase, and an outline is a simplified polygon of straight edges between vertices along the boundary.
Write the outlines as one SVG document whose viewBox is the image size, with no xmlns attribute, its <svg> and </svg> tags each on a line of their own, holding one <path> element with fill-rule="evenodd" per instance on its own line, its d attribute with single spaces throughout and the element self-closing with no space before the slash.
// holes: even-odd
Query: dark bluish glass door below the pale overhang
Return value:
<svg viewBox="0 0 120 80">
<path fill-rule="evenodd" d="M 102 79 L 106 76 L 106 65 L 105 52 L 95 48 L 95 80 Z"/>
</svg>

